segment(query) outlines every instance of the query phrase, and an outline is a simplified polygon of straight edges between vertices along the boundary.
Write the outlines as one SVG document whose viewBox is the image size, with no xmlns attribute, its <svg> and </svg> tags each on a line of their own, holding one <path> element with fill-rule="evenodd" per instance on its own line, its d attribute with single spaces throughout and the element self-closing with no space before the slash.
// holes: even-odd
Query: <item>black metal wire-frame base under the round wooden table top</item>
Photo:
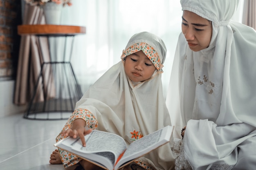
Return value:
<svg viewBox="0 0 256 170">
<path fill-rule="evenodd" d="M 51 26 L 51 25 L 49 25 Z M 54 26 L 54 25 L 53 25 Z M 56 31 L 58 32 L 58 31 Z M 85 33 L 85 31 L 84 31 Z M 82 97 L 81 88 L 70 63 L 75 35 L 78 33 L 35 33 L 40 52 L 41 70 L 29 102 L 26 119 L 58 120 L 68 119 L 76 102 Z M 47 38 L 49 60 L 43 57 L 41 38 Z M 57 60 L 51 54 L 51 40 L 64 38 L 63 59 Z M 66 55 L 67 41 L 71 40 L 70 54 Z M 63 42 L 63 41 L 62 41 Z"/>
</svg>

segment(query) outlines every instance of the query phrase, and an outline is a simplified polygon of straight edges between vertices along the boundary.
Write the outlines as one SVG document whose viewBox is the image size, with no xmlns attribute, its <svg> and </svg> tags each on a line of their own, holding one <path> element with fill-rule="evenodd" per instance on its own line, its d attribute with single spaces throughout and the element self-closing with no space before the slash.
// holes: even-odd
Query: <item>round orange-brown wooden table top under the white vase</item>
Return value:
<svg viewBox="0 0 256 170">
<path fill-rule="evenodd" d="M 38 36 L 74 36 L 85 34 L 84 26 L 72 25 L 18 25 L 19 35 L 38 35 Z"/>
</svg>

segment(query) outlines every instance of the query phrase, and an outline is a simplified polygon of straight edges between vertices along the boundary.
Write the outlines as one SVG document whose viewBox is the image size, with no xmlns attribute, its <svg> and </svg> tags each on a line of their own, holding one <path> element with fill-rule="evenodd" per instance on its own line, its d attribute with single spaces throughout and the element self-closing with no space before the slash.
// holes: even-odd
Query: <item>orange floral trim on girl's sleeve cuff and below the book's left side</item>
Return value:
<svg viewBox="0 0 256 170">
<path fill-rule="evenodd" d="M 65 124 L 65 126 L 63 127 L 63 129 L 61 130 L 61 132 L 63 130 L 69 129 L 72 126 L 72 122 L 75 119 L 83 119 L 86 121 L 86 125 L 91 128 L 91 129 L 96 129 L 98 127 L 98 121 L 97 119 L 94 117 L 94 115 L 92 113 L 90 113 L 89 110 L 86 109 L 77 109 L 75 110 L 71 117 L 67 120 L 67 123 Z M 63 139 L 63 136 L 61 135 L 61 133 L 58 135 L 58 137 L 56 138 L 56 142 L 60 141 L 61 139 Z M 60 156 L 61 156 L 61 161 L 63 163 L 63 166 L 65 168 L 70 167 L 72 165 L 75 165 L 76 163 L 78 163 L 79 161 L 81 161 L 81 158 L 76 157 L 75 155 L 72 155 L 71 153 L 65 151 L 65 150 L 61 150 L 58 149 Z"/>
</svg>

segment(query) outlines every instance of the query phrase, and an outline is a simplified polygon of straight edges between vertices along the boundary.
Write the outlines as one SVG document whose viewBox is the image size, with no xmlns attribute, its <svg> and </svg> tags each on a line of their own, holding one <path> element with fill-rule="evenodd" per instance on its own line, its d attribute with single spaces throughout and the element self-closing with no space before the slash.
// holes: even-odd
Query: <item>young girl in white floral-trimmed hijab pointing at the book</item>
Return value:
<svg viewBox="0 0 256 170">
<path fill-rule="evenodd" d="M 112 132 L 127 144 L 171 124 L 162 92 L 162 67 L 166 57 L 164 42 L 148 32 L 130 38 L 121 61 L 100 77 L 76 103 L 62 132 L 63 136 L 86 135 L 90 129 Z M 172 140 L 171 140 L 172 141 Z M 82 140 L 85 144 L 85 141 Z M 174 167 L 171 144 L 148 153 L 135 162 L 146 170 L 170 170 Z M 95 169 L 91 163 L 67 153 L 53 152 L 50 163 L 58 162 L 58 152 L 65 168 L 79 163 L 86 170 Z M 132 168 L 132 167 L 129 167 Z"/>
</svg>

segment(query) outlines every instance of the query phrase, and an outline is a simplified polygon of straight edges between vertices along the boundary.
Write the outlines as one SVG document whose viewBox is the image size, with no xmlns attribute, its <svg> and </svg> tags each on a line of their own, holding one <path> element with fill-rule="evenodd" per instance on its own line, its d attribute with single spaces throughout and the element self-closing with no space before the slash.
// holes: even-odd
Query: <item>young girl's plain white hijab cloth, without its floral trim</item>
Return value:
<svg viewBox="0 0 256 170">
<path fill-rule="evenodd" d="M 135 34 L 130 38 L 126 49 L 139 42 L 152 46 L 159 55 L 160 64 L 163 64 L 166 47 L 159 37 L 148 32 Z M 90 110 L 97 118 L 98 130 L 120 135 L 130 144 L 130 132 L 134 130 L 145 136 L 171 125 L 162 92 L 161 76 L 162 71 L 159 69 L 152 78 L 144 82 L 131 82 L 124 71 L 124 61 L 120 61 L 90 87 L 76 103 L 76 109 Z M 173 167 L 171 161 L 174 159 L 169 144 L 145 157 L 160 169 L 168 170 Z"/>
</svg>

